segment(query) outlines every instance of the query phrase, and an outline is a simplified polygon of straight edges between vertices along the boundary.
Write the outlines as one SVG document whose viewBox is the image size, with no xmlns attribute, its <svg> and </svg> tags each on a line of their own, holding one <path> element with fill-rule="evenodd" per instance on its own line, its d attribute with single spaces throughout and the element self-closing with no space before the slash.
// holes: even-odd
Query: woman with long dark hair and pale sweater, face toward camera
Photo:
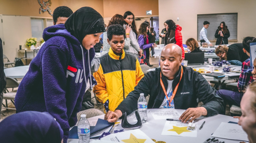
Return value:
<svg viewBox="0 0 256 143">
<path fill-rule="evenodd" d="M 142 50 L 140 49 L 140 46 L 137 41 L 138 32 L 137 32 L 137 28 L 134 20 L 134 14 L 131 13 L 131 11 L 125 12 L 124 23 L 125 23 L 124 24 L 125 29 L 126 29 L 126 25 L 130 25 L 132 29 L 130 33 L 126 33 L 126 35 L 130 35 L 131 45 L 129 48 L 124 47 L 125 53 L 129 53 L 135 56 L 137 59 L 139 59 L 139 56 L 141 56 L 142 54 Z"/>
</svg>

